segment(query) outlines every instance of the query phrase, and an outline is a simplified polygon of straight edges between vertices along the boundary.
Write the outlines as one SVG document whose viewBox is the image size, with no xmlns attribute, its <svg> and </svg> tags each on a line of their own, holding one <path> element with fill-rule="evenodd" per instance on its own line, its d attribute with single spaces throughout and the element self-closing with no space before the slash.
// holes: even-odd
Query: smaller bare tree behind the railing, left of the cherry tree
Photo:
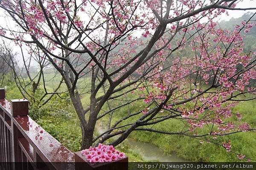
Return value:
<svg viewBox="0 0 256 170">
<path fill-rule="evenodd" d="M 12 72 L 12 78 L 20 91 L 23 98 L 29 101 L 30 115 L 32 118 L 37 119 L 41 113 L 39 109 L 43 107 L 53 97 L 53 95 L 61 95 L 63 92 L 59 92 L 63 79 L 59 80 L 52 89 L 47 88 L 46 83 L 55 79 L 45 78 L 44 72 L 49 67 L 49 62 L 45 59 L 44 53 L 41 53 L 38 47 L 27 48 L 25 52 L 29 54 L 29 57 L 25 57 L 25 52 L 20 47 L 21 58 L 17 58 L 17 52 L 13 53 L 13 49 L 6 45 L 1 44 L 0 58 L 4 63 L 3 69 L 8 69 Z M 24 54 L 25 53 L 25 54 Z M 22 61 L 19 61 L 21 59 Z M 32 65 L 33 63 L 33 66 Z M 22 64 L 21 64 L 22 63 Z M 54 74 L 53 74 L 54 75 Z"/>
</svg>

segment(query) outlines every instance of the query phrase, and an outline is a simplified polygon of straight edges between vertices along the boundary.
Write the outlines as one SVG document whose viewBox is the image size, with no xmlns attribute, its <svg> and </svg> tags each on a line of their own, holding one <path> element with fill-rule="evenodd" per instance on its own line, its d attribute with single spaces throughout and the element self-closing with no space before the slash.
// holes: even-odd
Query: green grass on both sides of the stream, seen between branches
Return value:
<svg viewBox="0 0 256 170">
<path fill-rule="evenodd" d="M 47 75 L 50 78 L 53 75 Z M 49 80 L 49 79 L 48 79 Z M 84 78 L 79 81 L 79 84 L 89 84 L 90 79 Z M 52 88 L 52 84 L 56 82 L 47 83 L 47 88 Z M 65 90 L 65 86 L 61 89 Z M 87 89 L 84 89 L 86 91 Z M 139 93 L 139 92 L 138 92 Z M 97 95 L 102 95 L 102 91 Z M 82 95 L 82 104 L 84 107 L 90 104 L 89 95 Z M 128 93 L 124 98 L 136 98 L 137 95 Z M 15 84 L 9 84 L 6 90 L 6 98 L 23 98 L 20 92 L 18 91 Z M 61 102 L 60 102 L 61 103 Z M 51 101 L 46 108 L 47 113 L 38 119 L 38 124 L 40 124 L 47 132 L 49 132 L 53 137 L 60 141 L 64 146 L 69 148 L 72 151 L 80 150 L 81 142 L 81 129 L 77 115 L 71 104 L 64 105 Z M 136 112 L 140 109 L 143 102 L 137 102 L 134 106 L 122 107 L 113 113 L 112 124 L 128 114 L 129 111 Z M 119 104 L 116 101 L 111 101 L 111 104 L 115 106 Z M 104 110 L 107 110 L 107 105 L 103 107 Z M 239 112 L 242 115 L 242 121 L 249 123 L 252 127 L 256 127 L 256 102 L 254 101 L 245 101 L 240 102 L 234 109 L 233 112 Z M 141 116 L 141 115 L 139 115 Z M 134 121 L 136 118 L 130 118 L 127 121 Z M 107 124 L 108 115 L 102 118 L 102 124 Z M 125 124 L 125 121 L 120 125 Z M 177 120 L 167 120 L 161 122 L 157 125 L 154 125 L 154 129 L 165 130 L 168 132 L 179 132 L 183 124 Z M 198 129 L 199 132 L 207 132 L 206 129 Z M 190 138 L 182 135 L 163 135 L 157 133 L 141 132 L 136 131 L 132 132 L 129 138 L 134 138 L 138 141 L 148 142 L 155 144 L 160 149 L 164 150 L 166 154 L 172 155 L 175 153 L 177 156 L 180 156 L 186 160 L 191 161 L 239 161 L 236 154 L 228 153 L 223 147 L 220 147 L 216 144 L 207 144 L 206 142 L 200 143 L 200 140 L 195 138 Z M 217 139 L 212 139 L 211 137 L 206 137 L 204 139 L 216 141 L 222 143 L 222 141 L 231 140 L 232 150 L 237 153 L 242 153 L 249 158 L 256 158 L 256 133 L 255 132 L 246 132 L 246 133 L 236 133 L 229 136 L 219 136 Z M 248 149 L 249 148 L 249 149 Z M 145 161 L 140 156 L 140 154 L 131 148 L 126 141 L 122 144 L 119 144 L 116 149 L 126 153 L 129 156 L 129 161 Z"/>
</svg>

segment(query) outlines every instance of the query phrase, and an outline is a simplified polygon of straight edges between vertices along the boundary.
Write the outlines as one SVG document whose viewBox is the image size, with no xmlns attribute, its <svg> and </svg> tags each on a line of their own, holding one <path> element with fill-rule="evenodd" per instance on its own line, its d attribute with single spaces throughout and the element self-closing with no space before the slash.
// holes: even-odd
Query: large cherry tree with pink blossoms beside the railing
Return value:
<svg viewBox="0 0 256 170">
<path fill-rule="evenodd" d="M 243 52 L 241 35 L 255 26 L 254 14 L 233 31 L 217 24 L 229 10 L 256 9 L 237 3 L 1 0 L 0 8 L 15 26 L 1 26 L 0 35 L 20 46 L 37 46 L 61 74 L 81 123 L 83 149 L 113 137 L 110 144 L 116 146 L 136 130 L 193 138 L 227 135 L 253 130 L 232 108 L 256 92 L 248 86 L 256 78 L 256 53 Z M 81 89 L 90 95 L 87 106 Z M 250 98 L 240 97 L 248 93 Z M 138 109 L 129 109 L 132 105 Z M 127 112 L 114 121 L 120 108 Z M 231 116 L 237 121 L 230 122 Z M 107 130 L 95 136 L 96 122 L 105 117 Z M 180 120 L 184 128 L 154 130 L 154 124 L 170 119 Z M 202 127 L 209 133 L 198 134 Z M 230 150 L 229 141 L 220 145 Z"/>
</svg>

